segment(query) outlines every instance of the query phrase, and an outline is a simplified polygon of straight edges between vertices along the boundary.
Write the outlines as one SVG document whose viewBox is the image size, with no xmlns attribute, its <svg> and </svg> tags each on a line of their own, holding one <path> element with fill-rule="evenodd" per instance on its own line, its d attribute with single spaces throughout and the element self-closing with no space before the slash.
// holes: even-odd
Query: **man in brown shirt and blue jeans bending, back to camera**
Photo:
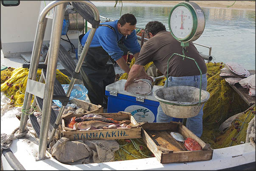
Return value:
<svg viewBox="0 0 256 171">
<path fill-rule="evenodd" d="M 149 40 L 143 44 L 138 59 L 132 65 L 129 72 L 124 90 L 138 79 L 138 73 L 141 72 L 143 66 L 153 61 L 158 70 L 167 78 L 167 61 L 173 53 L 183 54 L 180 42 L 178 42 L 165 26 L 158 21 L 151 21 L 146 24 L 145 32 L 148 34 Z M 192 42 L 186 47 L 185 56 L 193 58 L 202 71 L 202 90 L 206 90 L 207 67 L 204 59 L 200 56 L 197 48 Z M 194 60 L 187 59 L 178 55 L 172 56 L 169 61 L 168 70 L 168 87 L 171 86 L 191 86 L 200 88 L 200 71 Z M 149 76 L 144 76 L 148 78 Z M 140 77 L 141 78 L 141 77 Z M 165 83 L 166 84 L 166 83 Z M 166 85 L 165 85 L 166 86 Z M 172 117 L 165 115 L 161 106 L 158 107 L 157 122 L 170 122 Z M 203 132 L 203 107 L 198 115 L 188 118 L 186 127 L 200 137 Z"/>
</svg>

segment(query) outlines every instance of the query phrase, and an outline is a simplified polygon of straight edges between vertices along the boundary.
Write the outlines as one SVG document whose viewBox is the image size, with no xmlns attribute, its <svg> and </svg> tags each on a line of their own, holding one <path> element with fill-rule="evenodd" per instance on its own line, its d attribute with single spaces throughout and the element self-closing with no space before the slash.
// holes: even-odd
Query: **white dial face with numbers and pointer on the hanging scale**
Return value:
<svg viewBox="0 0 256 171">
<path fill-rule="evenodd" d="M 178 6 L 171 16 L 171 29 L 174 36 L 184 39 L 190 35 L 193 28 L 193 17 L 185 6 Z"/>
</svg>

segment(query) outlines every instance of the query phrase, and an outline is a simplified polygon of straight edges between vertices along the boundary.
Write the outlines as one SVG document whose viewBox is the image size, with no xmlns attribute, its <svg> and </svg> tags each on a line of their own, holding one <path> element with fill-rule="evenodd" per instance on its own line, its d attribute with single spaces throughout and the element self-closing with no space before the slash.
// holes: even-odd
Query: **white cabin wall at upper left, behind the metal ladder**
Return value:
<svg viewBox="0 0 256 171">
<path fill-rule="evenodd" d="M 41 1 L 20 1 L 19 6 L 3 6 L 1 4 L 1 42 L 3 54 L 20 56 L 21 53 L 31 52 L 37 29 Z M 43 44 L 50 42 L 52 19 L 48 19 Z M 68 34 L 75 48 L 81 33 Z M 64 35 L 63 39 L 67 39 Z M 61 40 L 61 44 L 69 50 L 70 43 Z"/>
</svg>

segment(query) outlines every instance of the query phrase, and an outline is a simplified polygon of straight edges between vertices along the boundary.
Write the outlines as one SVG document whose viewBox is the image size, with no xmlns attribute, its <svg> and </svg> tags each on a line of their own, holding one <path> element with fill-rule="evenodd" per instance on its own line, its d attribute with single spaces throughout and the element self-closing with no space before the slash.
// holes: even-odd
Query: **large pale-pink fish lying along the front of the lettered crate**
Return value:
<svg viewBox="0 0 256 171">
<path fill-rule="evenodd" d="M 83 122 L 75 123 L 73 126 L 73 129 L 89 130 L 91 127 L 100 129 L 100 128 L 103 128 L 104 126 L 108 127 L 113 124 L 120 126 L 120 124 L 117 124 L 117 123 L 106 123 L 106 122 L 102 122 L 102 121 L 83 121 Z"/>
</svg>

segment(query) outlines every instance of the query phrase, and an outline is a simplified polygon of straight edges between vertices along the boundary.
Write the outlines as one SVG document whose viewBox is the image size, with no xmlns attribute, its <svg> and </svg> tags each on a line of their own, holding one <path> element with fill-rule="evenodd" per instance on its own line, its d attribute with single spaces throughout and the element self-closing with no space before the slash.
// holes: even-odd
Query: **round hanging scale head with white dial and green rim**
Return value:
<svg viewBox="0 0 256 171">
<path fill-rule="evenodd" d="M 178 3 L 169 15 L 169 29 L 179 42 L 198 39 L 205 28 L 205 16 L 202 9 L 193 2 Z"/>
</svg>

